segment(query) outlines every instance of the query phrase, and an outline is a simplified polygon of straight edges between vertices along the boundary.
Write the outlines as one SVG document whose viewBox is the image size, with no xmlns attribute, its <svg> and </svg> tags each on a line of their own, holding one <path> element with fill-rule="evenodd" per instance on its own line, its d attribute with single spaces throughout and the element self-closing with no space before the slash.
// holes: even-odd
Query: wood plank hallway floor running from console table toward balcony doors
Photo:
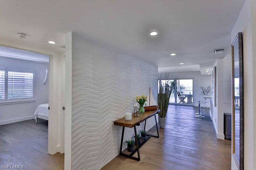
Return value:
<svg viewBox="0 0 256 170">
<path fill-rule="evenodd" d="M 170 105 L 160 138 L 140 148 L 140 162 L 118 155 L 102 170 L 231 169 L 231 141 L 216 138 L 209 109 L 205 118 L 196 118 L 196 112 L 198 107 Z"/>
</svg>

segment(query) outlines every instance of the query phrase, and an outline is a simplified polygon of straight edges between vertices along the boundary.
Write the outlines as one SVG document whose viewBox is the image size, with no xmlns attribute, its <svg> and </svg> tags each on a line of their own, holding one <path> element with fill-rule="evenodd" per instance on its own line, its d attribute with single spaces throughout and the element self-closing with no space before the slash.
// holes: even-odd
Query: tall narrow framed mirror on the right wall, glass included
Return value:
<svg viewBox="0 0 256 170">
<path fill-rule="evenodd" d="M 238 33 L 232 43 L 232 155 L 244 169 L 243 41 Z"/>
</svg>

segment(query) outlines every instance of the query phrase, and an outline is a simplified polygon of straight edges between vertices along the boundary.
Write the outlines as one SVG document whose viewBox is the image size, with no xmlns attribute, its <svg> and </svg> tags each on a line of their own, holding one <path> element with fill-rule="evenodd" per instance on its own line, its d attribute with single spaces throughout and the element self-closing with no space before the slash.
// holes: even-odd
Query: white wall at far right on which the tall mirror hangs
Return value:
<svg viewBox="0 0 256 170">
<path fill-rule="evenodd" d="M 231 31 L 231 42 L 236 34 L 243 36 L 244 72 L 244 169 L 256 169 L 256 2 L 245 0 Z M 231 156 L 231 169 L 236 170 Z"/>
</svg>

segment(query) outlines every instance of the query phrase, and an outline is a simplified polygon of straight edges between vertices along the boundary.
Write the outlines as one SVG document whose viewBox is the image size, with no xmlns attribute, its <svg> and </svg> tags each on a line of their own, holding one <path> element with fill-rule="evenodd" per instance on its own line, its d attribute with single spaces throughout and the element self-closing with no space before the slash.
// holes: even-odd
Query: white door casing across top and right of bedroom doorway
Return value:
<svg viewBox="0 0 256 170">
<path fill-rule="evenodd" d="M 19 48 L 22 50 L 42 53 L 51 55 L 52 59 L 52 117 L 51 121 L 48 122 L 48 127 L 51 127 L 51 133 L 48 133 L 48 153 L 54 154 L 56 152 L 64 153 L 64 114 L 65 111 L 62 110 L 63 104 L 65 104 L 65 58 L 64 52 L 51 51 L 38 46 L 27 45 L 24 40 L 22 43 L 14 42 L 9 40 L 0 39 L 1 46 L 7 46 L 11 48 Z M 49 44 L 50 45 L 50 44 Z M 64 72 L 63 72 L 64 70 Z M 50 74 L 49 81 L 50 81 Z M 64 84 L 64 85 L 63 85 Z M 51 123 L 52 122 L 52 123 Z M 52 134 L 52 135 L 51 135 Z M 51 136 L 49 136 L 51 135 Z"/>
</svg>

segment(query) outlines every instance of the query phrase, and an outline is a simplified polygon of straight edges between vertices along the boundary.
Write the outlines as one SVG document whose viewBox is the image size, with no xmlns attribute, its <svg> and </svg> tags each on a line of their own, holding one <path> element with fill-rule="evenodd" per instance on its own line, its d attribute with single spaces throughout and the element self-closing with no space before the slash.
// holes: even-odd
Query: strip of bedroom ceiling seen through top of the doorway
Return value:
<svg viewBox="0 0 256 170">
<path fill-rule="evenodd" d="M 48 55 L 38 54 L 30 51 L 24 51 L 4 46 L 0 46 L 0 57 L 49 63 Z"/>
</svg>

